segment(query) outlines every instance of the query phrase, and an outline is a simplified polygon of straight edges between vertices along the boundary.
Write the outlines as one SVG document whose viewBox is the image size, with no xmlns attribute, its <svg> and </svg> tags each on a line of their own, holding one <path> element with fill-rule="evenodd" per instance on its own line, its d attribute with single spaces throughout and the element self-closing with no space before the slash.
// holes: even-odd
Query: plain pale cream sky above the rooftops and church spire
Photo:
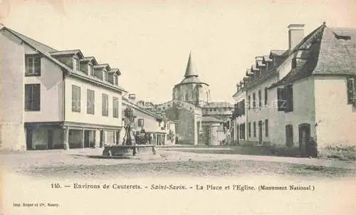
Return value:
<svg viewBox="0 0 356 215">
<path fill-rule="evenodd" d="M 183 79 L 189 51 L 211 99 L 233 102 L 255 56 L 286 49 L 287 26 L 356 27 L 356 1 L 0 0 L 8 28 L 58 50 L 80 49 L 120 68 L 120 85 L 163 103 Z"/>
</svg>

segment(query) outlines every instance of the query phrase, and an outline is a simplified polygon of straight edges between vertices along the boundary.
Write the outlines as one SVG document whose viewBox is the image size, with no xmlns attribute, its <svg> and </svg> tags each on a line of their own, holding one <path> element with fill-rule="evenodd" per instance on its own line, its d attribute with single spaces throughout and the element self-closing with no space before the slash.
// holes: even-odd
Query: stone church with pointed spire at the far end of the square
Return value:
<svg viewBox="0 0 356 215">
<path fill-rule="evenodd" d="M 211 102 L 209 84 L 199 79 L 189 53 L 183 80 L 174 85 L 172 100 L 159 105 L 139 101 L 137 105 L 175 123 L 176 144 L 226 145 L 231 142 L 229 121 L 234 105 Z"/>
</svg>

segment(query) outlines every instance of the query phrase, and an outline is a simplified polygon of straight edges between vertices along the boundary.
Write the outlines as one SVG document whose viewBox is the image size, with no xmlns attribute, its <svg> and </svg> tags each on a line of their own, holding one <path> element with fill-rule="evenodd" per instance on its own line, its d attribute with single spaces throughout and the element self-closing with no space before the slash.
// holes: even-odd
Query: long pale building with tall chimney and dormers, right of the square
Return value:
<svg viewBox="0 0 356 215">
<path fill-rule="evenodd" d="M 288 49 L 256 57 L 237 85 L 236 142 L 308 156 L 355 147 L 356 29 L 303 27 L 288 26 Z"/>
</svg>

